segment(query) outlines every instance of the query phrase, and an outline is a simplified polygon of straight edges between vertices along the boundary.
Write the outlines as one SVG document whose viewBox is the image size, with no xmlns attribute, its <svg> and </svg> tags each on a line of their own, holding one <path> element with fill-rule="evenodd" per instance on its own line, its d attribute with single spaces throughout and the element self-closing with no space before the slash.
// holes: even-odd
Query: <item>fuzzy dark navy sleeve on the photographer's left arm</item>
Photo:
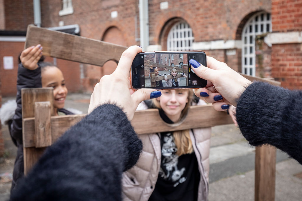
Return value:
<svg viewBox="0 0 302 201">
<path fill-rule="evenodd" d="M 121 200 L 121 175 L 141 140 L 117 106 L 101 105 L 50 146 L 11 200 Z"/>
</svg>

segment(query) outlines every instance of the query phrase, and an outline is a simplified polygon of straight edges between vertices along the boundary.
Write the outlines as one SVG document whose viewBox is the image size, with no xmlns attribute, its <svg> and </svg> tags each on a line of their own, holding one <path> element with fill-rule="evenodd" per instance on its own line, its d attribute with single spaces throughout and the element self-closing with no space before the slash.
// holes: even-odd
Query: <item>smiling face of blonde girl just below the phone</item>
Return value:
<svg viewBox="0 0 302 201">
<path fill-rule="evenodd" d="M 157 98 L 160 107 L 165 115 L 176 123 L 188 102 L 188 90 L 161 90 L 161 92 L 162 96 Z"/>
</svg>

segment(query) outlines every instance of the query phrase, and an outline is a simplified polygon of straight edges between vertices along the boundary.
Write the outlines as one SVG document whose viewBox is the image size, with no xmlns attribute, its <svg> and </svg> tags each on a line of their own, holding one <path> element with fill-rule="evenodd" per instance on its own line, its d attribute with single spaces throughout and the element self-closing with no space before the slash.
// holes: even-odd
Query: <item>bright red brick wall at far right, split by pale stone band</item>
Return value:
<svg viewBox="0 0 302 201">
<path fill-rule="evenodd" d="M 302 31 L 302 0 L 272 0 L 273 32 Z M 273 44 L 271 76 L 289 89 L 302 89 L 302 44 Z"/>
</svg>

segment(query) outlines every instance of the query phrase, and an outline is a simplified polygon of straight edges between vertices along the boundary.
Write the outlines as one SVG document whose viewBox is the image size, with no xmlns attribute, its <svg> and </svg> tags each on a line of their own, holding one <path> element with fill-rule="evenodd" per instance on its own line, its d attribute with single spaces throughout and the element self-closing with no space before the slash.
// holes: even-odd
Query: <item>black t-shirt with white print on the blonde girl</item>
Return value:
<svg viewBox="0 0 302 201">
<path fill-rule="evenodd" d="M 172 121 L 159 112 L 167 123 Z M 168 118 L 168 119 L 167 119 Z M 173 123 L 173 122 L 172 122 Z M 171 132 L 160 133 L 162 160 L 155 189 L 149 201 L 195 201 L 200 173 L 195 153 L 176 155 L 177 148 Z"/>
</svg>

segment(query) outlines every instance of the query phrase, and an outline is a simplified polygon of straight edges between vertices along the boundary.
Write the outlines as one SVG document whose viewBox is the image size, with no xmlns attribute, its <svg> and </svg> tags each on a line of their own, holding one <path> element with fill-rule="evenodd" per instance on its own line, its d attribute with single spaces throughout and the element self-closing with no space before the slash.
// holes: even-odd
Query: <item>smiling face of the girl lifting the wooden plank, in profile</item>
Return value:
<svg viewBox="0 0 302 201">
<path fill-rule="evenodd" d="M 44 67 L 41 72 L 42 87 L 53 87 L 53 107 L 61 109 L 64 107 L 68 90 L 62 71 L 55 66 Z"/>
</svg>

